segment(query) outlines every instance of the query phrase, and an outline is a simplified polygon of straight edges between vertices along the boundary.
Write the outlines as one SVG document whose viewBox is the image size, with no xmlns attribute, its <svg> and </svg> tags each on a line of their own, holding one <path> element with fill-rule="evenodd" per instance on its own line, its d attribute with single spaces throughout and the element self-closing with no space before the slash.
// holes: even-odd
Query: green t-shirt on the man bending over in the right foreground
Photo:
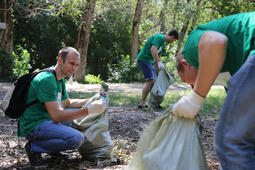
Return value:
<svg viewBox="0 0 255 170">
<path fill-rule="evenodd" d="M 226 59 L 221 72 L 233 75 L 255 53 L 255 12 L 231 15 L 199 25 L 187 38 L 182 54 L 196 69 L 199 68 L 198 43 L 206 31 L 217 31 L 228 38 Z"/>
</svg>

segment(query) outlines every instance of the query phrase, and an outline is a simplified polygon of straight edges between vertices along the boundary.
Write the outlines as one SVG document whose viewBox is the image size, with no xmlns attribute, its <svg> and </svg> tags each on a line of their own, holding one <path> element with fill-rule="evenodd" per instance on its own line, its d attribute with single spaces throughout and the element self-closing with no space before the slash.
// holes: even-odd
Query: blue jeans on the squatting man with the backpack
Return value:
<svg viewBox="0 0 255 170">
<path fill-rule="evenodd" d="M 56 153 L 78 149 L 84 142 L 84 135 L 71 127 L 53 121 L 42 122 L 26 136 L 31 141 L 31 151 Z"/>
</svg>

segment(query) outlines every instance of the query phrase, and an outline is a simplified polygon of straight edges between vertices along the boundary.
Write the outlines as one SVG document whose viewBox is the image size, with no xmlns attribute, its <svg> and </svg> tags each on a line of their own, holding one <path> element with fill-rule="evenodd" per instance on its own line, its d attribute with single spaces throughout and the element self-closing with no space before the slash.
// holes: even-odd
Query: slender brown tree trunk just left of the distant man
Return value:
<svg viewBox="0 0 255 170">
<path fill-rule="evenodd" d="M 135 9 L 135 16 L 132 25 L 132 47 L 131 47 L 131 64 L 134 63 L 138 55 L 138 45 L 139 45 L 139 24 L 142 15 L 144 0 L 137 0 L 137 5 Z"/>
</svg>

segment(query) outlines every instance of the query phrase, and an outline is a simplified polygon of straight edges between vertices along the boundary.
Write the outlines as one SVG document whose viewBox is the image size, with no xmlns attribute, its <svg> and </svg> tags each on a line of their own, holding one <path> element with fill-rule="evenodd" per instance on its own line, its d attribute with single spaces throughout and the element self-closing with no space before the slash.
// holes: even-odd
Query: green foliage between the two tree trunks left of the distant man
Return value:
<svg viewBox="0 0 255 170">
<path fill-rule="evenodd" d="M 102 2 L 104 3 L 104 2 Z M 130 3 L 120 1 L 105 3 L 95 14 L 88 47 L 86 73 L 110 76 L 109 66 L 119 67 L 123 56 L 130 54 L 133 14 L 128 12 Z"/>
</svg>

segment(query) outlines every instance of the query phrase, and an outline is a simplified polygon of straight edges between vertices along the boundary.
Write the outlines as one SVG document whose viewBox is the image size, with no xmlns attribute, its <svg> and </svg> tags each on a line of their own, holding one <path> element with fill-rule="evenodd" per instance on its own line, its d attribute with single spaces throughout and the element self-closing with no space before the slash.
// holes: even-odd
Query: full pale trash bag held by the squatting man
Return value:
<svg viewBox="0 0 255 170">
<path fill-rule="evenodd" d="M 101 96 L 96 94 L 83 107 L 87 107 L 95 100 L 100 100 Z M 107 107 L 109 97 L 105 98 L 105 111 L 97 114 L 89 114 L 73 120 L 72 127 L 84 134 L 84 143 L 78 149 L 84 159 L 97 161 L 111 158 L 113 144 L 108 131 Z M 82 108 L 83 108 L 82 107 Z"/>
</svg>

